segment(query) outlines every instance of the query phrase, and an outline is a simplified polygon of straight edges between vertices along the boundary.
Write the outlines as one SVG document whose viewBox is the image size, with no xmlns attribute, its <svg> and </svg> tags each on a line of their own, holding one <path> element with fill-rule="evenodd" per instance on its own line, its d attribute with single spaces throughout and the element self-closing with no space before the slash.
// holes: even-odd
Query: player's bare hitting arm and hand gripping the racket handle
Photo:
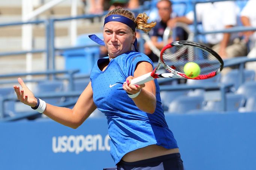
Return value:
<svg viewBox="0 0 256 170">
<path fill-rule="evenodd" d="M 126 79 L 126 82 L 123 84 L 123 89 L 130 94 L 136 94 L 141 90 L 139 95 L 132 99 L 140 110 L 147 113 L 155 112 L 155 108 L 157 104 L 157 99 L 155 97 L 156 96 L 155 82 L 152 80 L 142 85 L 131 85 L 130 82 L 133 78 L 139 77 L 141 75 L 144 75 L 152 71 L 153 71 L 153 67 L 150 63 L 146 61 L 139 62 L 134 71 L 134 77 L 129 76 Z"/>
</svg>

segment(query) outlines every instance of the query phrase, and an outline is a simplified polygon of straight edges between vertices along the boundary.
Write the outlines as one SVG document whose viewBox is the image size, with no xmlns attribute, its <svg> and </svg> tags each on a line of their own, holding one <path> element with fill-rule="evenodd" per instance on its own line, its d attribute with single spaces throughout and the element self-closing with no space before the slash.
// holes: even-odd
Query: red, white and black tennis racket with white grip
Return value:
<svg viewBox="0 0 256 170">
<path fill-rule="evenodd" d="M 196 78 L 185 75 L 184 66 L 188 62 L 200 66 L 200 75 Z M 158 74 L 160 66 L 169 73 Z M 153 72 L 132 79 L 131 84 L 140 85 L 157 78 L 208 79 L 216 76 L 222 69 L 223 60 L 211 48 L 196 42 L 176 41 L 167 44 L 161 50 L 158 64 Z"/>
</svg>

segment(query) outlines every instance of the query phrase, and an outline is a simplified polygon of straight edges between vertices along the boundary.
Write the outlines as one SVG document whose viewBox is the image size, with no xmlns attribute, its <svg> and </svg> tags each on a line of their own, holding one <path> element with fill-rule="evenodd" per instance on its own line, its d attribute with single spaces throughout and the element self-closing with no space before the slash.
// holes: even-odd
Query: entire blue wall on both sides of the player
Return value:
<svg viewBox="0 0 256 170">
<path fill-rule="evenodd" d="M 256 113 L 166 115 L 186 170 L 255 170 Z M 54 121 L 0 124 L 0 169 L 101 170 L 114 166 L 107 120 L 76 130 Z"/>
</svg>

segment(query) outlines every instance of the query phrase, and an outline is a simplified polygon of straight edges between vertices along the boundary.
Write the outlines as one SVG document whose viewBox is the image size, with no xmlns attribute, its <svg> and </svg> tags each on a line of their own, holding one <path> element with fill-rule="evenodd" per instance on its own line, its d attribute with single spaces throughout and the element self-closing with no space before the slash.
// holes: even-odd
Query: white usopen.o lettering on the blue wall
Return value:
<svg viewBox="0 0 256 170">
<path fill-rule="evenodd" d="M 75 154 L 83 151 L 110 151 L 110 137 L 101 134 L 54 136 L 52 149 L 54 153 L 75 152 Z"/>
</svg>

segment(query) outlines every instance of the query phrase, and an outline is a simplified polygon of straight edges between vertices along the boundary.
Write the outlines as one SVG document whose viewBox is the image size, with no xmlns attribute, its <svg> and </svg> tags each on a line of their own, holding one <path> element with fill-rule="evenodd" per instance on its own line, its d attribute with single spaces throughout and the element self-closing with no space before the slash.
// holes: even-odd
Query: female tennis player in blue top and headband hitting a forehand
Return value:
<svg viewBox="0 0 256 170">
<path fill-rule="evenodd" d="M 90 83 L 73 109 L 57 107 L 35 97 L 21 78 L 14 85 L 18 100 L 71 128 L 79 127 L 98 108 L 107 116 L 114 170 L 183 170 L 175 138 L 164 118 L 157 80 L 131 85 L 131 79 L 152 72 L 153 63 L 136 49 L 136 28 L 148 32 L 155 22 L 127 9 L 111 10 L 105 17 L 103 37 L 90 38 L 105 45 L 108 57 L 93 67 Z M 134 50 L 133 50 L 134 49 Z"/>
</svg>

